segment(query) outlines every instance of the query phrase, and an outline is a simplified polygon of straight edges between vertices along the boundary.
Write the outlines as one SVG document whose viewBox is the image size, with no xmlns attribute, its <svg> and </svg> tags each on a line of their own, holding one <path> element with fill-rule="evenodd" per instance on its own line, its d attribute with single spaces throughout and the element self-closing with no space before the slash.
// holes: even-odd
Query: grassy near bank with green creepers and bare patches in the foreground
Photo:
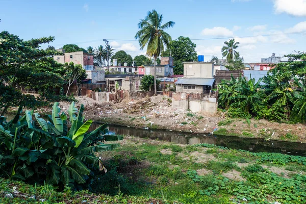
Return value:
<svg viewBox="0 0 306 204">
<path fill-rule="evenodd" d="M 252 153 L 210 144 L 176 145 L 125 137 L 121 147 L 99 154 L 107 173 L 98 173 L 91 191 L 56 192 L 2 181 L 0 202 L 35 195 L 36 203 L 305 203 L 306 158 Z M 14 193 L 13 187 L 19 194 Z M 20 193 L 22 192 L 22 193 Z M 99 193 L 106 194 L 99 194 Z M 26 196 L 26 197 L 24 197 Z"/>
</svg>

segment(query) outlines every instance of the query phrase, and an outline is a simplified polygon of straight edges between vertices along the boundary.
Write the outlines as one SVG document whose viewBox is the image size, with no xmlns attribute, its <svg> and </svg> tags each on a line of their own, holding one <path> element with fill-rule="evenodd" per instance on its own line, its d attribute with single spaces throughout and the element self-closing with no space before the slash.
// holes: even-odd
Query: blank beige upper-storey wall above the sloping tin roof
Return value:
<svg viewBox="0 0 306 204">
<path fill-rule="evenodd" d="M 204 78 L 214 77 L 213 62 L 186 62 L 184 63 L 184 78 Z"/>
</svg>

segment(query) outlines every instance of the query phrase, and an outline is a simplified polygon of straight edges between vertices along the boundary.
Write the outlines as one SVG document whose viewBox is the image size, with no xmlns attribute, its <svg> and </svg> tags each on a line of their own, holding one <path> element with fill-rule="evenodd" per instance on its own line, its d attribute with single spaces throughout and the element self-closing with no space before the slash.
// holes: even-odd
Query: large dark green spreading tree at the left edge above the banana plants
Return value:
<svg viewBox="0 0 306 204">
<path fill-rule="evenodd" d="M 19 86 L 36 88 L 44 95 L 53 88 L 61 87 L 65 70 L 51 55 L 55 49 L 41 49 L 54 37 L 43 37 L 24 41 L 7 31 L 0 33 L 0 109 L 5 114 L 9 107 L 33 107 L 39 103 L 35 97 L 22 94 Z M 18 90 L 15 90 L 18 86 Z"/>
</svg>

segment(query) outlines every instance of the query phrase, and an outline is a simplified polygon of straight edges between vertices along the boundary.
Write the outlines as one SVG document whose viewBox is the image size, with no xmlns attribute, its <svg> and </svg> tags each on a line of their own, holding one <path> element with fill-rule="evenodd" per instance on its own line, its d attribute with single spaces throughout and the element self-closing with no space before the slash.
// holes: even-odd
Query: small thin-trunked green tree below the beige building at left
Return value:
<svg viewBox="0 0 306 204">
<path fill-rule="evenodd" d="M 77 85 L 81 83 L 82 80 L 85 80 L 87 77 L 86 70 L 83 69 L 81 64 L 74 65 L 73 62 L 69 64 L 65 63 L 65 80 L 67 83 L 67 92 L 66 96 L 70 92 L 70 86 L 73 84 L 74 81 L 77 82 Z"/>
</svg>

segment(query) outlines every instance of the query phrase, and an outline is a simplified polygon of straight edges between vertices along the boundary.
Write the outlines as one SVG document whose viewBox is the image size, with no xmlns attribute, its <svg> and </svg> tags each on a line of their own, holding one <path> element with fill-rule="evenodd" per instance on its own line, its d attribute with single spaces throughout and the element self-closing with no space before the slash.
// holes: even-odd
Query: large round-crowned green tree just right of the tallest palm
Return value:
<svg viewBox="0 0 306 204">
<path fill-rule="evenodd" d="M 195 51 L 196 44 L 189 37 L 180 36 L 177 40 L 169 43 L 168 48 L 162 53 L 163 57 L 173 57 L 174 74 L 183 74 L 184 65 L 182 62 L 193 62 L 197 59 Z"/>
</svg>

